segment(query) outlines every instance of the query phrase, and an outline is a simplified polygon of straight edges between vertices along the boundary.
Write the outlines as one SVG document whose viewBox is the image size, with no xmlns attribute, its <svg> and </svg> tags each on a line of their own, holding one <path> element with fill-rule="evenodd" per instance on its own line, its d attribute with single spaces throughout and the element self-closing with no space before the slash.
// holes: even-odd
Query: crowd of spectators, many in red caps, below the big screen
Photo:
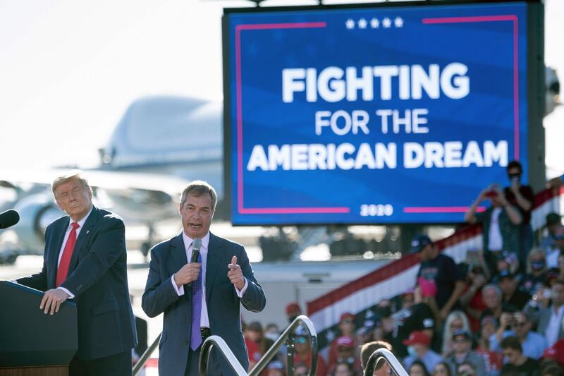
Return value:
<svg viewBox="0 0 564 376">
<path fill-rule="evenodd" d="M 428 236 L 415 237 L 411 252 L 420 265 L 413 289 L 380 301 L 363 322 L 343 314 L 338 336 L 319 355 L 317 376 L 362 375 L 376 348 L 393 351 L 410 376 L 564 376 L 564 226 L 551 212 L 535 242 L 533 191 L 520 183 L 519 162 L 507 171 L 510 186 L 492 184 L 465 214 L 468 223 L 482 224 L 478 259 L 457 265 Z M 293 303 L 286 313 L 291 322 L 300 308 Z M 252 368 L 280 330 L 253 322 L 244 333 Z M 294 375 L 305 376 L 309 336 L 298 329 L 294 343 Z M 266 376 L 286 375 L 286 353 L 278 355 Z M 390 374 L 376 365 L 374 375 Z"/>
</svg>

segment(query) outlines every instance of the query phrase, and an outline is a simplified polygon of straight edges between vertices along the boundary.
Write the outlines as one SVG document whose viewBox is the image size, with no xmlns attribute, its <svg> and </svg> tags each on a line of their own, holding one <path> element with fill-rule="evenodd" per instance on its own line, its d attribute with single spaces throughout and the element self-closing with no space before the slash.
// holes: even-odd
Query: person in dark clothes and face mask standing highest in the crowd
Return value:
<svg viewBox="0 0 564 376">
<path fill-rule="evenodd" d="M 507 165 L 507 174 L 510 181 L 510 186 L 505 187 L 503 193 L 505 199 L 511 205 L 519 209 L 522 217 L 522 222 L 519 229 L 519 261 L 520 265 L 525 265 L 527 260 L 527 253 L 533 245 L 533 230 L 531 227 L 531 211 L 534 203 L 534 192 L 530 186 L 521 184 L 521 176 L 523 174 L 523 167 L 517 161 L 511 161 Z"/>
</svg>

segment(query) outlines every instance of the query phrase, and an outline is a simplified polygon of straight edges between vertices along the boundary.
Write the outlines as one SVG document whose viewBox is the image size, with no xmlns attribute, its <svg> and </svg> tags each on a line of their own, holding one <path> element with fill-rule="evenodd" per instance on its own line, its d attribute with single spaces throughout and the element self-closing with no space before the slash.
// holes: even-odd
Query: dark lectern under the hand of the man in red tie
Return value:
<svg viewBox="0 0 564 376">
<path fill-rule="evenodd" d="M 76 305 L 39 310 L 43 292 L 0 281 L 0 376 L 68 376 L 77 348 Z"/>
</svg>

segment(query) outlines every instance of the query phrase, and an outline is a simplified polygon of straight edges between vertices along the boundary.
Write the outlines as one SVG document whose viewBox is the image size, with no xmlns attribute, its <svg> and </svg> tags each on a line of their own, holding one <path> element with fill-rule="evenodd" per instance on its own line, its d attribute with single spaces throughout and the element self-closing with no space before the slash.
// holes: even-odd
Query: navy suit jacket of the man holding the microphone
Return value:
<svg viewBox="0 0 564 376">
<path fill-rule="evenodd" d="M 248 282 L 243 298 L 238 298 L 235 287 L 227 277 L 227 265 L 233 256 L 237 256 L 237 263 Z M 155 245 L 151 250 L 142 307 L 149 317 L 164 313 L 163 334 L 159 343 L 159 375 L 163 376 L 184 376 L 188 363 L 192 293 L 185 286 L 184 295 L 178 296 L 171 282 L 172 274 L 187 262 L 182 234 Z M 260 312 L 266 305 L 266 298 L 255 279 L 243 245 L 210 234 L 205 273 L 211 332 L 221 336 L 243 368 L 248 369 L 249 358 L 241 332 L 240 303 L 247 310 Z M 219 356 L 219 359 L 223 376 L 233 375 L 233 370 L 223 357 Z"/>
</svg>

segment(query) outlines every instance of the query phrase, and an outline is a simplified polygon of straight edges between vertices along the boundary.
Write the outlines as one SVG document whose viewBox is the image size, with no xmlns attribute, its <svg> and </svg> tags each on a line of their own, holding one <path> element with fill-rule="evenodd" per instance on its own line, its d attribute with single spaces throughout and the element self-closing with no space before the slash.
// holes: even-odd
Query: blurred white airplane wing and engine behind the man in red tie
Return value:
<svg viewBox="0 0 564 376">
<path fill-rule="evenodd" d="M 0 202 L 3 210 L 15 209 L 20 223 L 13 226 L 17 246 L 29 253 L 40 254 L 44 245 L 44 231 L 54 219 L 64 215 L 53 199 L 51 182 L 73 169 L 4 170 L 0 172 L 0 188 L 16 191 L 16 198 Z M 123 217 L 126 224 L 145 224 L 178 217 L 180 193 L 189 181 L 181 178 L 121 171 L 85 170 L 84 176 L 93 190 L 93 201 Z M 149 229 L 149 231 L 151 231 Z M 5 248 L 0 239 L 0 250 Z"/>
</svg>

